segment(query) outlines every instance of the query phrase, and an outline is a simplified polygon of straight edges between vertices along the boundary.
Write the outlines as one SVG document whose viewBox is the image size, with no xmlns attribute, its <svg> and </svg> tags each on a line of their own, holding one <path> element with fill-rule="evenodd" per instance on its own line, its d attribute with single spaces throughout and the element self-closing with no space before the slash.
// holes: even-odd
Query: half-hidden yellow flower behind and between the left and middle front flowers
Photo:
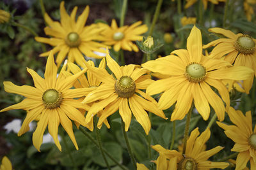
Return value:
<svg viewBox="0 0 256 170">
<path fill-rule="evenodd" d="M 95 67 L 92 60 L 89 60 L 87 62 L 87 64 L 89 64 L 91 67 Z M 72 62 L 68 63 L 68 67 L 73 74 L 79 73 L 81 71 L 81 69 L 76 64 L 74 64 Z M 99 68 L 105 69 L 105 67 L 106 67 L 106 58 L 103 58 L 100 61 Z M 92 74 L 92 72 L 90 70 L 88 70 L 86 72 L 86 75 L 87 75 L 87 77 L 84 74 L 82 74 L 81 76 L 79 76 L 79 78 L 77 78 L 77 81 L 74 83 L 74 87 L 76 89 L 86 88 L 86 89 L 84 89 L 84 92 L 86 90 L 86 92 L 84 93 L 84 96 L 88 95 L 89 92 L 96 90 L 99 87 L 99 85 L 102 83 L 101 81 L 98 80 L 98 78 L 96 76 L 94 76 L 94 74 Z M 81 98 L 82 101 L 83 101 L 83 98 Z M 95 101 L 95 102 L 97 102 L 97 101 Z M 92 106 L 93 103 L 88 103 L 88 105 Z M 80 111 L 84 115 L 85 111 L 84 110 L 80 110 Z M 100 117 L 102 115 L 102 111 L 99 111 L 97 113 L 97 115 L 98 115 L 98 117 Z M 108 128 L 110 128 L 110 125 L 108 124 L 108 120 L 104 120 L 103 123 Z M 77 125 L 77 127 L 79 127 L 79 125 L 80 125 L 78 122 L 75 122 L 75 124 Z M 98 125 L 99 128 L 101 126 L 102 126 L 102 124 Z M 88 129 L 90 129 L 90 131 L 93 131 L 93 119 L 88 123 L 88 125 L 86 127 Z"/>
</svg>

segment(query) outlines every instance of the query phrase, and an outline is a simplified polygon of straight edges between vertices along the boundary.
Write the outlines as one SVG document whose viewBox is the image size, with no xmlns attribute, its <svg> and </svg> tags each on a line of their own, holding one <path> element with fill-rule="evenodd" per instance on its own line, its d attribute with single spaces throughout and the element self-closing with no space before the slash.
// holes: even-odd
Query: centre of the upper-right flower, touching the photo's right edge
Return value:
<svg viewBox="0 0 256 170">
<path fill-rule="evenodd" d="M 255 42 L 249 35 L 239 36 L 236 40 L 235 48 L 243 54 L 250 54 L 255 52 Z"/>
</svg>

